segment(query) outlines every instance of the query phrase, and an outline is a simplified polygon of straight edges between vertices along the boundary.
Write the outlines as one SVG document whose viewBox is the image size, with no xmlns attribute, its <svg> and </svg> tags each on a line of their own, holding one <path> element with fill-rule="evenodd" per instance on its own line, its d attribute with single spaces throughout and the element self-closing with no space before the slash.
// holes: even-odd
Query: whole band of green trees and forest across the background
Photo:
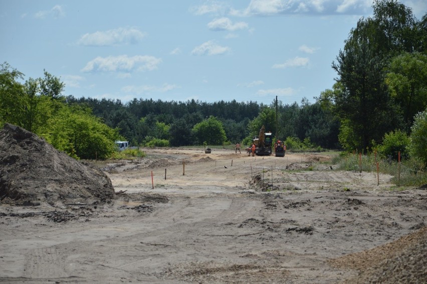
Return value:
<svg viewBox="0 0 427 284">
<path fill-rule="evenodd" d="M 427 14 L 417 20 L 396 0 L 372 8 L 331 64 L 336 83 L 313 94 L 313 104 L 77 98 L 64 95 L 65 84 L 46 70 L 25 80 L 4 62 L 0 125 L 21 126 L 82 159 L 108 158 L 116 139 L 147 147 L 248 145 L 264 125 L 291 150 L 375 149 L 427 165 Z"/>
</svg>

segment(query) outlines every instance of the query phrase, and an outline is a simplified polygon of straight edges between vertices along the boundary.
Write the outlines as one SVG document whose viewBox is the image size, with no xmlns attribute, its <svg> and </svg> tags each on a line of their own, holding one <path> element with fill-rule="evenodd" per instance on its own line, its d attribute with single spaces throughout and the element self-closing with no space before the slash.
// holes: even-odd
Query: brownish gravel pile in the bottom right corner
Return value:
<svg viewBox="0 0 427 284">
<path fill-rule="evenodd" d="M 330 263 L 356 268 L 359 275 L 343 283 L 427 283 L 427 227 L 393 242 Z"/>
</svg>

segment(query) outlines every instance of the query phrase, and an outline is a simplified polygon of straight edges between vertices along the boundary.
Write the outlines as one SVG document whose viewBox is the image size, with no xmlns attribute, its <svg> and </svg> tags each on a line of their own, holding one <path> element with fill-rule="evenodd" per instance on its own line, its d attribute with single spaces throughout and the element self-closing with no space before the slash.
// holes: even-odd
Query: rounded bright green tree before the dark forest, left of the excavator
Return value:
<svg viewBox="0 0 427 284">
<path fill-rule="evenodd" d="M 197 123 L 191 132 L 195 137 L 195 143 L 199 145 L 204 141 L 208 145 L 223 145 L 227 140 L 223 123 L 215 116 L 210 116 L 208 119 Z"/>
</svg>

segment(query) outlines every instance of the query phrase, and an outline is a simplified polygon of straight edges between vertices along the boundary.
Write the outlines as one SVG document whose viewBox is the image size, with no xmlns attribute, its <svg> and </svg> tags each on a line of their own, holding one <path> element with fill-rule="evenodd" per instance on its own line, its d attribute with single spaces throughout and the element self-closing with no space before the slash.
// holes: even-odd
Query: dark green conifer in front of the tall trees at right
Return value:
<svg viewBox="0 0 427 284">
<path fill-rule="evenodd" d="M 341 122 L 346 121 L 345 127 L 351 129 L 345 133 L 352 133 L 357 139 L 350 144 L 363 152 L 372 146 L 372 140 L 380 141 L 385 132 L 395 128 L 384 84 L 385 67 L 386 62 L 366 42 L 340 51 L 337 64 L 332 64 L 344 86 L 343 92 L 335 94 L 335 111 Z M 340 142 L 343 135 L 340 134 Z M 349 137 L 345 140 L 350 142 Z"/>
</svg>

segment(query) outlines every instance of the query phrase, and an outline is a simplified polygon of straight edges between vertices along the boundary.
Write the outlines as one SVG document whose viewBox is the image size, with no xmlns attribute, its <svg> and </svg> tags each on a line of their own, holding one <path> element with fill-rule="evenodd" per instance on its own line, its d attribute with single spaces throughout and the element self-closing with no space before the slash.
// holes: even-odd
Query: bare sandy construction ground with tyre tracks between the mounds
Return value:
<svg viewBox="0 0 427 284">
<path fill-rule="evenodd" d="M 427 222 L 426 190 L 330 156 L 145 150 L 97 163 L 116 200 L 0 206 L 0 282 L 336 283 L 359 271 L 331 260 Z"/>
</svg>

